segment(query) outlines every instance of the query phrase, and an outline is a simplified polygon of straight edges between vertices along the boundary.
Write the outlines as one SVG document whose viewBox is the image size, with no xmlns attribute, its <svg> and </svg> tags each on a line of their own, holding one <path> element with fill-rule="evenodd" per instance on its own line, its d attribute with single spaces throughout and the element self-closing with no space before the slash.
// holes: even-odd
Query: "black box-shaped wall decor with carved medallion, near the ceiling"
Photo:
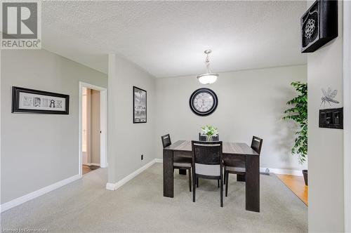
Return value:
<svg viewBox="0 0 351 233">
<path fill-rule="evenodd" d="M 315 1 L 301 17 L 301 52 L 312 53 L 337 36 L 338 1 Z"/>
</svg>

